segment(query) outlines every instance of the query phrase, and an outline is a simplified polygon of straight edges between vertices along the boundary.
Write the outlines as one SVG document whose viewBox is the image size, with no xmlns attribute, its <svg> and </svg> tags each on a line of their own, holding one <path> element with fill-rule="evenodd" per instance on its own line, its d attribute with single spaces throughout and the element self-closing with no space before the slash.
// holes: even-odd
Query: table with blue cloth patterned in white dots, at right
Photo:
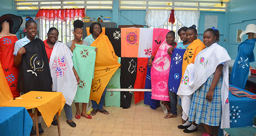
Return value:
<svg viewBox="0 0 256 136">
<path fill-rule="evenodd" d="M 235 87 L 231 84 L 229 85 L 230 87 L 238 89 L 234 91 L 244 91 L 249 95 L 255 95 L 254 93 L 239 87 Z M 231 94 L 231 91 L 229 91 L 228 96 L 230 104 L 230 128 L 252 126 L 253 118 L 256 115 L 256 99 L 251 99 L 248 97 L 237 97 Z M 222 129 L 219 129 L 218 136 L 223 136 Z"/>
</svg>

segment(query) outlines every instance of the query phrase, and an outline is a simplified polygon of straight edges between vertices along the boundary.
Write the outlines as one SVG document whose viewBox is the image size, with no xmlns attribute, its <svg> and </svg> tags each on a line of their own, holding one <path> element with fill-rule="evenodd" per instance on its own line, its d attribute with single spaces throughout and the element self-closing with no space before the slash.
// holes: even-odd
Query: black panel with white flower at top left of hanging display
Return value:
<svg viewBox="0 0 256 136">
<path fill-rule="evenodd" d="M 105 33 L 114 47 L 116 56 L 121 57 L 121 28 L 106 28 Z"/>
</svg>

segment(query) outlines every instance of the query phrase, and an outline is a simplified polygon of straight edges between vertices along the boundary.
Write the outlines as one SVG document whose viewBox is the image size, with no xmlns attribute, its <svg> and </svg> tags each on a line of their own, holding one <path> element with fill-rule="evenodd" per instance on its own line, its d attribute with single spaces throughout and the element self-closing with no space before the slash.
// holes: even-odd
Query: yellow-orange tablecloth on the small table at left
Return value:
<svg viewBox="0 0 256 136">
<path fill-rule="evenodd" d="M 42 98 L 38 98 L 42 97 Z M 15 100 L 1 103 L 2 107 L 25 107 L 26 109 L 37 108 L 42 114 L 47 127 L 50 127 L 54 115 L 59 115 L 66 100 L 61 92 L 30 91 Z"/>
</svg>

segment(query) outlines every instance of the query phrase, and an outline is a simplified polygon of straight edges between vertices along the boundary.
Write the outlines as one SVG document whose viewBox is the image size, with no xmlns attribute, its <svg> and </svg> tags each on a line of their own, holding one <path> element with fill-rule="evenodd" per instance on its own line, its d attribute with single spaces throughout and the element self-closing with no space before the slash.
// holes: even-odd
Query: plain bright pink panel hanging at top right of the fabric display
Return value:
<svg viewBox="0 0 256 136">
<path fill-rule="evenodd" d="M 168 32 L 170 32 L 168 29 L 153 28 L 152 53 L 154 53 L 161 43 L 165 41 Z"/>
</svg>

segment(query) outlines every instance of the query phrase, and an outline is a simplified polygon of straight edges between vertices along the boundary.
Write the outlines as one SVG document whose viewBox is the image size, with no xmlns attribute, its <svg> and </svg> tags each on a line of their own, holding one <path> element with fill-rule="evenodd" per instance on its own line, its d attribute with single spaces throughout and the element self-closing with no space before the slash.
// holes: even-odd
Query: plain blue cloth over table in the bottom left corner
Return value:
<svg viewBox="0 0 256 136">
<path fill-rule="evenodd" d="M 1 136 L 29 136 L 32 119 L 24 107 L 0 107 Z"/>
</svg>

